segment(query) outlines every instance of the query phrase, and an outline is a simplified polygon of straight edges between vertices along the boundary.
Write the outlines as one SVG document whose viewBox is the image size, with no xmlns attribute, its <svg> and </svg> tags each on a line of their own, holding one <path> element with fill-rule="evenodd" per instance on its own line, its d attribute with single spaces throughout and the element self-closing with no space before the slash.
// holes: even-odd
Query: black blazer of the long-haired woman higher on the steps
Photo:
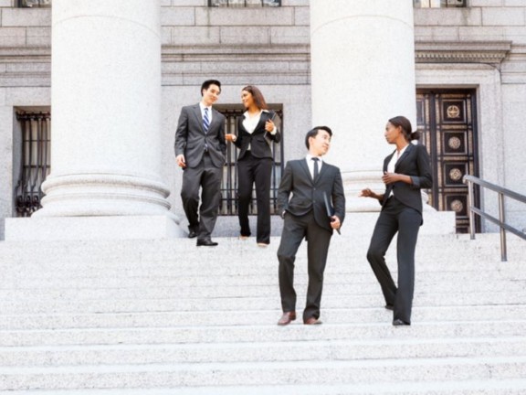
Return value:
<svg viewBox="0 0 526 395">
<path fill-rule="evenodd" d="M 270 134 L 265 130 L 265 123 L 272 119 L 273 115 L 274 112 L 263 110 L 263 112 L 261 112 L 261 117 L 259 118 L 259 123 L 253 133 L 248 133 L 245 126 L 243 126 L 243 121 L 246 118 L 245 115 L 237 119 L 237 139 L 234 144 L 240 150 L 239 155 L 237 155 L 238 160 L 243 159 L 247 154 L 248 146 L 250 146 L 250 153 L 252 156 L 257 158 L 272 158 L 272 151 L 269 142 L 271 143 L 273 141 L 274 143 L 279 143 L 281 141 L 281 134 L 279 131 L 275 134 Z"/>
</svg>

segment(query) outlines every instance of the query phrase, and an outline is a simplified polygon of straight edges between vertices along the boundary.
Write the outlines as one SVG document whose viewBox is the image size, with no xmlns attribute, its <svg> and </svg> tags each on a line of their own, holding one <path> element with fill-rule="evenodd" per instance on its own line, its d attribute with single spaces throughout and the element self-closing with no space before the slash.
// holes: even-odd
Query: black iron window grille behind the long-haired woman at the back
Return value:
<svg viewBox="0 0 526 395">
<path fill-rule="evenodd" d="M 216 106 L 217 111 L 226 117 L 225 133 L 237 134 L 237 119 L 243 115 L 245 110 L 239 108 L 228 108 Z M 274 166 L 270 180 L 270 213 L 275 214 L 278 211 L 278 189 L 281 181 L 281 172 L 283 170 L 283 111 L 272 108 L 271 111 L 277 113 L 275 123 L 279 126 L 281 133 L 281 142 L 272 144 L 272 156 Z M 221 184 L 221 203 L 219 206 L 219 215 L 237 215 L 237 154 L 239 150 L 236 145 L 226 143 L 226 164 L 223 169 L 223 181 Z M 253 191 L 252 201 L 248 213 L 254 215 L 258 213 L 256 205 L 256 195 Z"/>
</svg>

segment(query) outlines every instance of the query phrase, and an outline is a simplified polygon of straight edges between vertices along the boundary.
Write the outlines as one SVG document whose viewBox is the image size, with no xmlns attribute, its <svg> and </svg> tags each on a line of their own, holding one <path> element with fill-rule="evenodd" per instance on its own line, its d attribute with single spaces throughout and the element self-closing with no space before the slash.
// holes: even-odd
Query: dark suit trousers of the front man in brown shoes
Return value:
<svg viewBox="0 0 526 395">
<path fill-rule="evenodd" d="M 296 311 L 296 291 L 294 290 L 294 262 L 301 240 L 307 237 L 307 265 L 309 285 L 307 301 L 303 310 L 303 322 L 310 317 L 320 317 L 323 272 L 332 233 L 321 228 L 312 211 L 304 216 L 285 214 L 285 222 L 278 248 L 279 294 L 283 312 Z"/>
</svg>

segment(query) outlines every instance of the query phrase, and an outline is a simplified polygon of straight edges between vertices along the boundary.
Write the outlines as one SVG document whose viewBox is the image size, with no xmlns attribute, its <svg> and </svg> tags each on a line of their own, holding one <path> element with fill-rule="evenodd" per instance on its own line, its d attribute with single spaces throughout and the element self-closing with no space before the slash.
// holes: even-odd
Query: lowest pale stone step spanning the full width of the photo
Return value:
<svg viewBox="0 0 526 395">
<path fill-rule="evenodd" d="M 0 390 L 79 388 L 377 384 L 404 378 L 426 380 L 514 379 L 526 371 L 526 357 L 404 358 L 344 361 L 199 363 L 180 365 L 97 365 L 3 368 Z"/>
</svg>

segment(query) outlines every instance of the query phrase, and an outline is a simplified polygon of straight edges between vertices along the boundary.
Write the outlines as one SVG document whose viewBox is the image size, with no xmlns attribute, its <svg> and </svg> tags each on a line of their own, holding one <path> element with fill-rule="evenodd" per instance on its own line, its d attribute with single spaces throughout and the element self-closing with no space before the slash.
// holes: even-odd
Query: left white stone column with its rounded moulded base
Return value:
<svg viewBox="0 0 526 395">
<path fill-rule="evenodd" d="M 89 224 L 96 235 L 93 217 L 107 228 L 111 216 L 120 238 L 179 234 L 160 176 L 160 9 L 159 0 L 53 1 L 51 174 L 32 220 L 76 218 L 68 233 Z"/>
</svg>

